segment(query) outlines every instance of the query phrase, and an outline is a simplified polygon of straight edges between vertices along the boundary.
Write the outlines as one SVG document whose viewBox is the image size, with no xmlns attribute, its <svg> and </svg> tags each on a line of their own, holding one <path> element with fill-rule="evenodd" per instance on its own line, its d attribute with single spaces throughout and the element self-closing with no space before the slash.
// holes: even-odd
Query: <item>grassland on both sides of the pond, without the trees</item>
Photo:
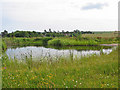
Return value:
<svg viewBox="0 0 120 90">
<path fill-rule="evenodd" d="M 118 42 L 117 36 L 109 33 L 110 37 L 106 38 L 106 34 L 98 34 L 99 37 L 97 34 L 85 34 L 82 38 L 3 38 L 3 41 L 7 46 L 47 43 L 51 47 Z M 51 57 L 37 61 L 27 56 L 25 61 L 14 59 L 7 55 L 1 58 L 3 88 L 118 88 L 118 49 L 108 55 L 102 53 L 79 59 L 73 59 L 72 55 L 56 58 L 55 61 Z"/>
</svg>

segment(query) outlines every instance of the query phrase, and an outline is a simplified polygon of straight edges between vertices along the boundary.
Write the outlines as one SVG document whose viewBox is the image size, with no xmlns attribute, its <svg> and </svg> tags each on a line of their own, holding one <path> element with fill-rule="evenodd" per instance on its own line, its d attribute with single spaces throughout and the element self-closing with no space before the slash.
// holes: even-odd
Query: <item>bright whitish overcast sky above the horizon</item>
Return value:
<svg viewBox="0 0 120 90">
<path fill-rule="evenodd" d="M 2 0 L 2 31 L 115 31 L 119 0 Z"/>
</svg>

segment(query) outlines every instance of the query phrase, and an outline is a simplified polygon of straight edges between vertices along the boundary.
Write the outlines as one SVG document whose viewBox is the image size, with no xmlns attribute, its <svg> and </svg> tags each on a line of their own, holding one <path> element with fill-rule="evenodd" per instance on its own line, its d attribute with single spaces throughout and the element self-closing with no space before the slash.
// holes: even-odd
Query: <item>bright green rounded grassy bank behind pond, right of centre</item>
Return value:
<svg viewBox="0 0 120 90">
<path fill-rule="evenodd" d="M 52 46 L 80 46 L 80 45 L 99 45 L 99 44 L 112 44 L 117 43 L 117 38 L 84 38 L 81 39 L 77 38 L 54 38 L 48 41 L 48 45 Z"/>
</svg>

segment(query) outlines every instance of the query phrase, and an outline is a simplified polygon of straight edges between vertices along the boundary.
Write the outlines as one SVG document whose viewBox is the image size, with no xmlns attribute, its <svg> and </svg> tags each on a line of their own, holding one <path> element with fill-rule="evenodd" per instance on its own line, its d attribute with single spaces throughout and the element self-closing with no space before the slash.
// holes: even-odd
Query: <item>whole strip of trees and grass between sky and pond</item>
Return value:
<svg viewBox="0 0 120 90">
<path fill-rule="evenodd" d="M 52 46 L 80 46 L 118 43 L 120 37 L 118 32 L 83 32 L 74 30 L 73 32 L 44 32 L 15 31 L 2 32 L 2 36 L 7 45 L 28 46 L 28 45 L 52 45 Z M 9 38 L 8 38 L 9 37 Z"/>
</svg>

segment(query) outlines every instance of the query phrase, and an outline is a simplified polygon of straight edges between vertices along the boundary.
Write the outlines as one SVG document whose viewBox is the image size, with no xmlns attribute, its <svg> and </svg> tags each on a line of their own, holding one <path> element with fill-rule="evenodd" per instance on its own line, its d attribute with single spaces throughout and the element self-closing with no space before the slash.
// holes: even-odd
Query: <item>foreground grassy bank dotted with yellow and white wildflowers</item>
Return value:
<svg viewBox="0 0 120 90">
<path fill-rule="evenodd" d="M 58 59 L 58 60 L 57 60 Z M 81 59 L 50 57 L 25 62 L 2 58 L 3 88 L 117 88 L 118 50 Z"/>
</svg>

